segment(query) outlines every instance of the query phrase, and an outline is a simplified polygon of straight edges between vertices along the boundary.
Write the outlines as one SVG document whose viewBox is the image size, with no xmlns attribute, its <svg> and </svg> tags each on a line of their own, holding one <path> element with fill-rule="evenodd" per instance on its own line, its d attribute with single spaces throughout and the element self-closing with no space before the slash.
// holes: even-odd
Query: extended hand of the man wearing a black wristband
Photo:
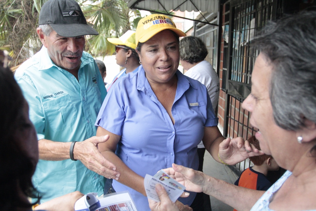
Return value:
<svg viewBox="0 0 316 211">
<path fill-rule="evenodd" d="M 88 169 L 109 179 L 119 179 L 120 173 L 116 166 L 103 157 L 98 149 L 98 144 L 106 142 L 109 135 L 93 136 L 74 146 L 74 159 L 80 160 Z"/>
</svg>

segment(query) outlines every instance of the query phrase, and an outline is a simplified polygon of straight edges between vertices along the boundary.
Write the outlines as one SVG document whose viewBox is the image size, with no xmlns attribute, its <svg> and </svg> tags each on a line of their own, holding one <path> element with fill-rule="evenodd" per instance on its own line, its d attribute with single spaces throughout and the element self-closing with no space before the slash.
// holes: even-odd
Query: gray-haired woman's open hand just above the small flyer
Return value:
<svg viewBox="0 0 316 211">
<path fill-rule="evenodd" d="M 203 191 L 206 178 L 203 172 L 177 164 L 172 164 L 172 168 L 164 169 L 164 171 L 177 182 L 184 185 L 186 190 L 197 193 Z"/>
</svg>

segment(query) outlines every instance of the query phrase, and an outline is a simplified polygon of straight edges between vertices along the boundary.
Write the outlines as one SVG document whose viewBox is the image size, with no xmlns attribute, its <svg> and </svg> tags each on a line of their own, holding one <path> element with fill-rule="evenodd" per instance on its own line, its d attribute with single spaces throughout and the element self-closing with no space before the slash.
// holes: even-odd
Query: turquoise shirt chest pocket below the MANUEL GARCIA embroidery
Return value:
<svg viewBox="0 0 316 211">
<path fill-rule="evenodd" d="M 75 107 L 68 94 L 42 102 L 45 125 L 60 130 L 73 125 L 76 121 Z"/>
</svg>

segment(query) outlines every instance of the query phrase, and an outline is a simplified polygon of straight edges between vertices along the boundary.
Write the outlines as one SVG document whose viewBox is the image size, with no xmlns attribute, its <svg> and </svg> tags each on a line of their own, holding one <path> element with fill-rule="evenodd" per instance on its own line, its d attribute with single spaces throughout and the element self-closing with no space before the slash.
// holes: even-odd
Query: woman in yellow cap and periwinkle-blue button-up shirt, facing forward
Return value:
<svg viewBox="0 0 316 211">
<path fill-rule="evenodd" d="M 121 174 L 112 186 L 115 191 L 128 190 L 137 210 L 150 210 L 145 175 L 155 175 L 173 163 L 197 170 L 201 140 L 218 162 L 218 156 L 234 164 L 259 154 L 248 154 L 242 138 L 226 139 L 219 150 L 224 137 L 206 87 L 177 70 L 179 36 L 185 33 L 168 16 L 154 14 L 139 21 L 135 38 L 142 65 L 113 87 L 95 124 L 97 136 L 110 135 L 99 144 L 100 152 Z M 249 145 L 247 150 L 252 150 Z M 191 205 L 195 195 L 191 192 L 179 201 Z"/>
</svg>

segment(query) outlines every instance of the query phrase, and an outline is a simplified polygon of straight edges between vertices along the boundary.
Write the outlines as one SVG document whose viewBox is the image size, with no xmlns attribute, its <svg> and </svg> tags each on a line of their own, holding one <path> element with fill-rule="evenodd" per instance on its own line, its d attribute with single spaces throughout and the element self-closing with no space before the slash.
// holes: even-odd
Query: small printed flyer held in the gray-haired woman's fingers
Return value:
<svg viewBox="0 0 316 211">
<path fill-rule="evenodd" d="M 167 191 L 170 200 L 175 202 L 179 196 L 184 192 L 185 187 L 169 177 L 163 170 L 158 171 L 154 176 L 146 174 L 144 179 L 144 187 L 146 190 L 147 198 L 152 199 L 156 202 L 160 202 L 159 197 L 156 193 L 156 184 L 161 184 Z"/>
</svg>

